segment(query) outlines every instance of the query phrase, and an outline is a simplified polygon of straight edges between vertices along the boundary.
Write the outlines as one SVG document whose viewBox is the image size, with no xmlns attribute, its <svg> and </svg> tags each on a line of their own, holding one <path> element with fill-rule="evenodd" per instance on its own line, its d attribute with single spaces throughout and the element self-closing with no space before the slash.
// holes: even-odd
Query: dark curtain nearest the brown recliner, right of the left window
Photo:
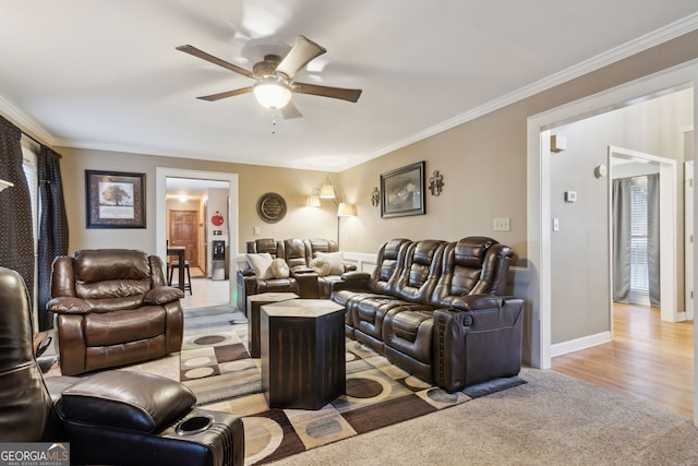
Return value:
<svg viewBox="0 0 698 466">
<path fill-rule="evenodd" d="M 39 218 L 38 263 L 37 263 L 37 307 L 39 330 L 53 327 L 53 320 L 46 311 L 51 299 L 51 265 L 53 259 L 68 254 L 68 216 L 63 202 L 60 154 L 41 146 L 38 156 Z"/>
</svg>

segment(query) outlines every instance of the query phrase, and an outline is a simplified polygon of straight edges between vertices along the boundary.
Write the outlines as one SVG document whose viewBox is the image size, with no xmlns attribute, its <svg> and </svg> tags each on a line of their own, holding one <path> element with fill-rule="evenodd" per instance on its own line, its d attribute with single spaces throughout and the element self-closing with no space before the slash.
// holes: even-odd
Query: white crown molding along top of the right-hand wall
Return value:
<svg viewBox="0 0 698 466">
<path fill-rule="evenodd" d="M 411 136 L 398 141 L 395 144 L 390 144 L 389 146 L 384 147 L 383 150 L 375 153 L 374 157 L 380 157 L 382 155 L 388 154 L 416 142 L 422 141 L 426 138 L 455 128 L 459 124 L 467 123 L 468 121 L 474 120 L 476 118 L 480 118 L 484 115 L 491 113 L 508 105 L 531 97 L 543 91 L 547 91 L 552 87 L 566 83 L 567 81 L 599 70 L 603 67 L 615 63 L 616 61 L 623 60 L 624 58 L 631 57 L 643 50 L 650 49 L 654 46 L 666 43 L 671 39 L 679 37 L 684 34 L 688 34 L 696 29 L 698 29 L 698 13 L 690 14 L 667 26 L 646 34 L 642 37 L 627 41 L 618 47 L 606 50 L 603 53 L 599 53 L 598 56 L 592 57 L 589 60 L 585 60 L 532 84 L 520 87 L 515 92 L 505 94 L 504 96 L 498 97 L 494 100 L 490 100 L 489 103 L 481 105 L 480 107 L 476 107 L 472 110 L 457 115 L 448 120 L 426 128 L 425 130 L 414 133 Z"/>
</svg>

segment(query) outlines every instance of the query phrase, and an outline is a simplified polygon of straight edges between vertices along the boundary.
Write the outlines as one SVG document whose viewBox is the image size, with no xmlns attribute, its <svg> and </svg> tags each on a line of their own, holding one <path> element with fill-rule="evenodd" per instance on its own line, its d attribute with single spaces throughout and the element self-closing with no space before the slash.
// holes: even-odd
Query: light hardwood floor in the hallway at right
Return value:
<svg viewBox="0 0 698 466">
<path fill-rule="evenodd" d="M 662 322 L 659 309 L 614 304 L 613 342 L 553 358 L 553 370 L 694 417 L 693 322 Z"/>
</svg>

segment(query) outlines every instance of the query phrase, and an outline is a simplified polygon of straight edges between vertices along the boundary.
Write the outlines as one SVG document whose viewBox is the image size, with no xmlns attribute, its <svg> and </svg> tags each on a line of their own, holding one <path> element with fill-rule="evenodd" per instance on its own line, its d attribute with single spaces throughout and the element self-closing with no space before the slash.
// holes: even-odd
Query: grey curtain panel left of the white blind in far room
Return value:
<svg viewBox="0 0 698 466">
<path fill-rule="evenodd" d="M 613 300 L 630 302 L 630 178 L 613 180 Z"/>
</svg>

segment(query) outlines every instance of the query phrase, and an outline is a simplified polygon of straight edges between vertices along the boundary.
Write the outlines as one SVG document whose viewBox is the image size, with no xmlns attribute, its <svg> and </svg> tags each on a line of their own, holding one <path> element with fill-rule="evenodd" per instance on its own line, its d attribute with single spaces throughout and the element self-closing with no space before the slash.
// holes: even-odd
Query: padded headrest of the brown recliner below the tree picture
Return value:
<svg viewBox="0 0 698 466">
<path fill-rule="evenodd" d="M 145 252 L 129 249 L 81 250 L 73 254 L 75 279 L 84 284 L 104 280 L 151 279 Z"/>
</svg>

